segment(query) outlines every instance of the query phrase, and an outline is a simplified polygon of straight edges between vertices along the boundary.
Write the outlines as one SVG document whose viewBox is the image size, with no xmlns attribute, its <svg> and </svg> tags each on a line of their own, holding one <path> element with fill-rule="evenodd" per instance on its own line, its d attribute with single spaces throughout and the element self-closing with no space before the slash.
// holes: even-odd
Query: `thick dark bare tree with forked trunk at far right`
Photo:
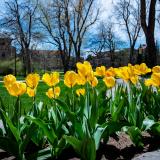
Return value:
<svg viewBox="0 0 160 160">
<path fill-rule="evenodd" d="M 155 44 L 155 16 L 156 16 L 156 2 L 157 0 L 150 0 L 149 10 L 147 13 L 147 1 L 140 0 L 141 4 L 141 25 L 146 37 L 147 43 L 147 57 L 146 63 L 153 67 L 156 65 L 156 44 Z M 148 16 L 147 16 L 148 14 Z"/>
</svg>

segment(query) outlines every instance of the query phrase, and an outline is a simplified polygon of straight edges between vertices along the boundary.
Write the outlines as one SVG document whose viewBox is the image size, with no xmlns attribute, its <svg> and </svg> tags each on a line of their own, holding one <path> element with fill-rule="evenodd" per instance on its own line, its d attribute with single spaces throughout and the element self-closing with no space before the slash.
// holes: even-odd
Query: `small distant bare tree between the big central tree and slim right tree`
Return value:
<svg viewBox="0 0 160 160">
<path fill-rule="evenodd" d="M 111 61 L 114 61 L 114 52 L 120 45 L 123 45 L 124 42 L 116 34 L 114 23 L 100 23 L 96 29 L 97 33 L 91 36 L 89 46 L 91 49 L 89 52 L 95 54 L 96 56 L 103 57 L 105 51 L 108 50 L 111 56 Z"/>
</svg>

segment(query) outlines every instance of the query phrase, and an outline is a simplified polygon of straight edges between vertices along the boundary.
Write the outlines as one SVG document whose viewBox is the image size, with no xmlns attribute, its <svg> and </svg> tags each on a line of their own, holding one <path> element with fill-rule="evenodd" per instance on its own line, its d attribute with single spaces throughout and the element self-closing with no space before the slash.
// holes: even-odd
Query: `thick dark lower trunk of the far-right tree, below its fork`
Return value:
<svg viewBox="0 0 160 160">
<path fill-rule="evenodd" d="M 148 32 L 146 34 L 147 54 L 145 56 L 146 64 L 148 67 L 154 67 L 157 63 L 156 44 L 154 34 Z"/>
</svg>

